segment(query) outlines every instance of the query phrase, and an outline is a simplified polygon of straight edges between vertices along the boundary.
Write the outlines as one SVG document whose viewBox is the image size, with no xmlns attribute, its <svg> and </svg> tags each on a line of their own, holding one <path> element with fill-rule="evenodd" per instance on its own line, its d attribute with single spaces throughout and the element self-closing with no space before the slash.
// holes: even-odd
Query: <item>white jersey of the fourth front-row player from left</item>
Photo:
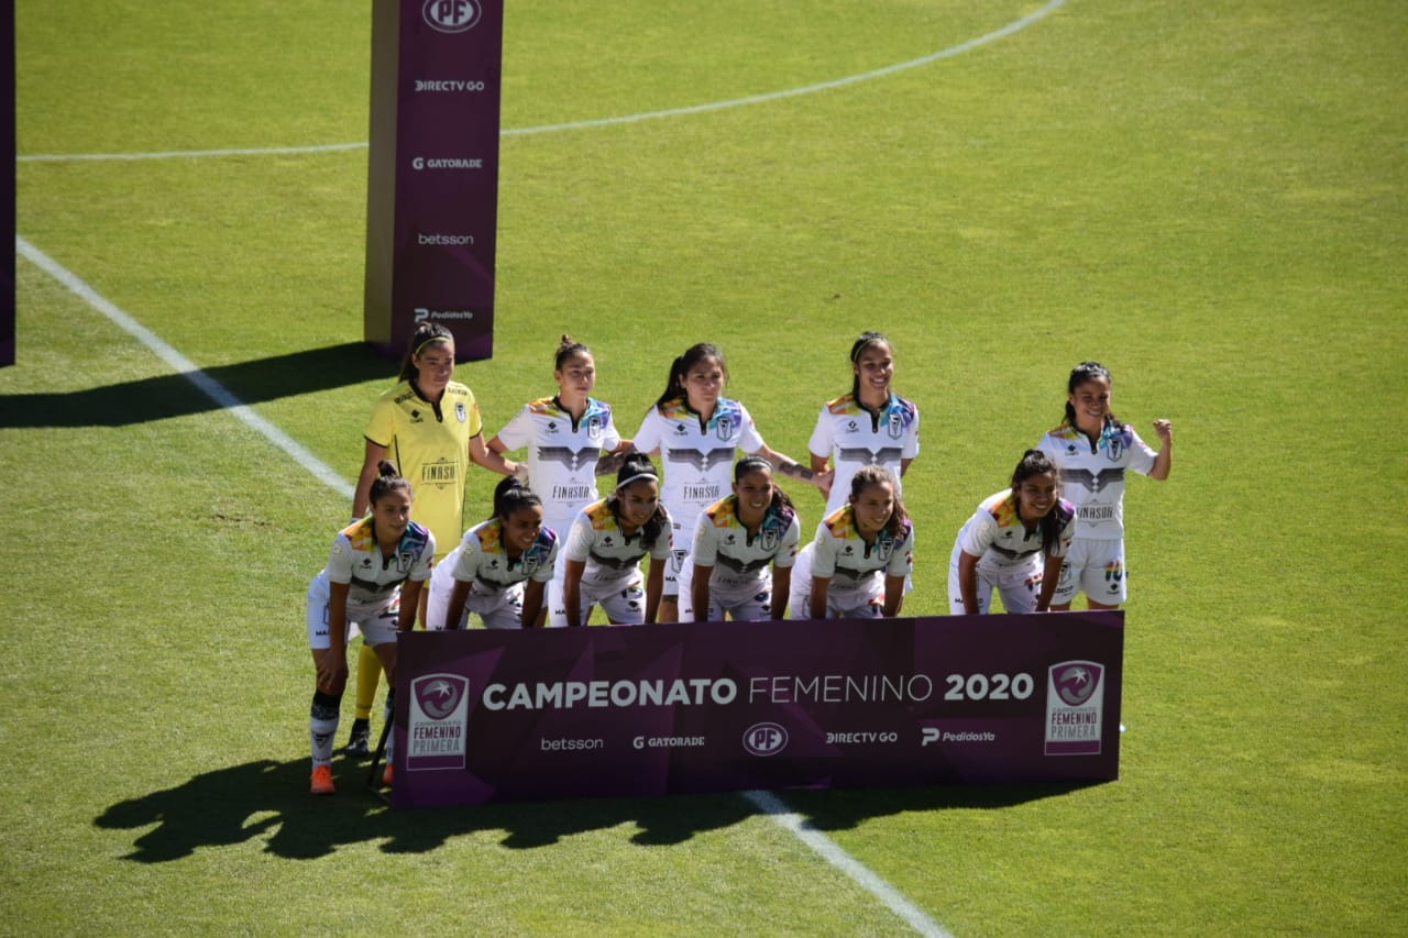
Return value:
<svg viewBox="0 0 1408 938">
<path fill-rule="evenodd" d="M 770 580 L 769 568 L 790 568 L 797 559 L 801 521 L 791 508 L 767 508 L 758 535 L 749 539 L 738 520 L 734 496 L 704 510 L 694 528 L 690 563 L 711 566 L 710 587 L 736 594 L 759 589 Z"/>
</svg>

